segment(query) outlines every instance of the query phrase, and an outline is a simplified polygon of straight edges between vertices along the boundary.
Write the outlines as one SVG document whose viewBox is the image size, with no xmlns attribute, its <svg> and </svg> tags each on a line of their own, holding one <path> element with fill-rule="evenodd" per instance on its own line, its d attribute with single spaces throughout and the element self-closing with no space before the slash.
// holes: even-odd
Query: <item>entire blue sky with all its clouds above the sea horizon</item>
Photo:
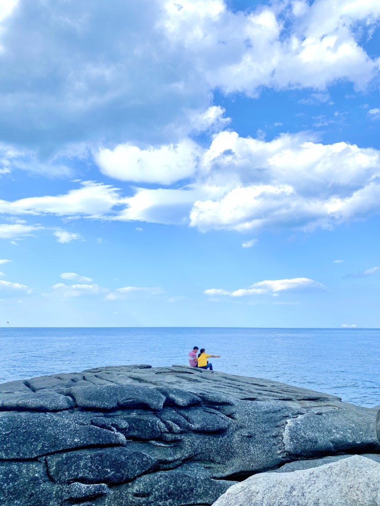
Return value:
<svg viewBox="0 0 380 506">
<path fill-rule="evenodd" d="M 0 326 L 380 327 L 379 77 L 378 0 L 0 0 Z"/>
</svg>

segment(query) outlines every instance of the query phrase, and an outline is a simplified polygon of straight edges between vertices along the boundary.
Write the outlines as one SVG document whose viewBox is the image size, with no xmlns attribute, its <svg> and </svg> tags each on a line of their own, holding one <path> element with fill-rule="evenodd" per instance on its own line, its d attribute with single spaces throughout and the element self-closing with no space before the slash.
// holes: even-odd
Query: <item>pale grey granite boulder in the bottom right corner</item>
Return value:
<svg viewBox="0 0 380 506">
<path fill-rule="evenodd" d="M 301 471 L 256 474 L 214 506 L 379 506 L 379 476 L 378 462 L 354 455 Z"/>
</svg>

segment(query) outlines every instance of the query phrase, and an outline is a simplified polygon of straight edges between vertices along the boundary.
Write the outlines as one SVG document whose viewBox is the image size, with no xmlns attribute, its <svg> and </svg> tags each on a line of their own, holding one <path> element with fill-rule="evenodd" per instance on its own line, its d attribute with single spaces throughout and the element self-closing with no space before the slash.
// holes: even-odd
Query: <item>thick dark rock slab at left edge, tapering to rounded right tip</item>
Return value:
<svg viewBox="0 0 380 506">
<path fill-rule="evenodd" d="M 125 443 L 118 432 L 79 425 L 66 415 L 0 413 L 0 459 L 34 459 L 72 448 Z"/>
</svg>

